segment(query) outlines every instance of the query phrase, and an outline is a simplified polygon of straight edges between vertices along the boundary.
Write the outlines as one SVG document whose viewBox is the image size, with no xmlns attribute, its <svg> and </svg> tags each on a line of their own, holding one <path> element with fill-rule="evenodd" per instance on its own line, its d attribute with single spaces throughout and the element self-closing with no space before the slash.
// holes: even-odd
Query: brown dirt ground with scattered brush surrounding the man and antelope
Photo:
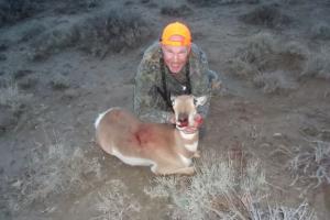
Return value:
<svg viewBox="0 0 330 220">
<path fill-rule="evenodd" d="M 0 29 L 0 98 L 8 101 L 0 102 L 0 219 L 172 219 L 170 201 L 144 193 L 152 185 L 150 169 L 106 155 L 94 142 L 94 121 L 110 107 L 132 110 L 143 52 L 174 20 L 191 28 L 222 80 L 205 122 L 201 154 L 246 152 L 261 162 L 274 202 L 307 200 L 318 219 L 329 218 L 329 157 L 322 158 L 320 185 L 289 163 L 315 143 L 330 156 L 329 1 L 85 1 L 97 4 L 84 10 L 69 8 L 72 2 Z M 135 47 L 99 57 L 54 46 L 46 58 L 31 59 L 38 32 L 67 29 L 117 6 L 147 22 L 150 33 Z M 264 14 L 255 15 L 255 9 Z M 9 82 L 16 90 L 8 99 Z M 100 216 L 107 212 L 96 207 L 100 200 L 112 216 Z"/>
</svg>

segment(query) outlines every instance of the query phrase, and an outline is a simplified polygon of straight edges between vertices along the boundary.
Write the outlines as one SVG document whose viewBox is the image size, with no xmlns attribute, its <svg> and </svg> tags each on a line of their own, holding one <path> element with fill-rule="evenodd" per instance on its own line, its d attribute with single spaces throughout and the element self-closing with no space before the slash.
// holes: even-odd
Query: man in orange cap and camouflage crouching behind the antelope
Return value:
<svg viewBox="0 0 330 220">
<path fill-rule="evenodd" d="M 194 43 L 189 29 L 179 22 L 168 24 L 160 42 L 144 53 L 135 76 L 134 111 L 144 121 L 173 123 L 170 96 L 191 94 L 207 96 L 198 108 L 205 119 L 211 96 L 211 84 L 218 76 L 208 68 L 206 55 Z M 196 119 L 200 124 L 202 120 Z"/>
</svg>

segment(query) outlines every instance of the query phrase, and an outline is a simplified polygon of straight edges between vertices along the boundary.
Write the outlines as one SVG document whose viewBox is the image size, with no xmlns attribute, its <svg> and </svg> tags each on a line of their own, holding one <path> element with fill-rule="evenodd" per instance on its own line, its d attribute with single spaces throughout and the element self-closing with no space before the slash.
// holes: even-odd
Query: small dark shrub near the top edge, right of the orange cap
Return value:
<svg viewBox="0 0 330 220">
<path fill-rule="evenodd" d="M 240 20 L 253 25 L 271 29 L 283 28 L 290 22 L 290 18 L 280 12 L 277 4 L 261 6 L 251 12 L 241 15 Z"/>
</svg>

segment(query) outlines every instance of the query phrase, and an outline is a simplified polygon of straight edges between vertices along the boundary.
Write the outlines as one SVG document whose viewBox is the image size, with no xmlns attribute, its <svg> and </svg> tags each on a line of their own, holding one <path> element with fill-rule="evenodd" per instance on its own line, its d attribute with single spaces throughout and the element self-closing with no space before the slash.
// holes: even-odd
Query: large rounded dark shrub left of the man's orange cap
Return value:
<svg viewBox="0 0 330 220">
<path fill-rule="evenodd" d="M 96 56 L 133 48 L 150 34 L 140 14 L 122 9 L 89 19 L 78 30 L 79 47 Z"/>
</svg>

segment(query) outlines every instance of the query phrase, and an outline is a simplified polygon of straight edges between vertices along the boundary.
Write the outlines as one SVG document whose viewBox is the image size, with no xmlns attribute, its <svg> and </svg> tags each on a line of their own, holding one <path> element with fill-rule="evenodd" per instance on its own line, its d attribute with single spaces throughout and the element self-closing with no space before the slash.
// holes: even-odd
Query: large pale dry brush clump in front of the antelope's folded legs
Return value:
<svg viewBox="0 0 330 220">
<path fill-rule="evenodd" d="M 191 178 L 156 177 L 155 187 L 145 193 L 153 197 L 169 197 L 176 205 L 174 219 L 315 219 L 306 202 L 298 208 L 268 205 L 268 187 L 257 162 L 241 164 L 223 160 L 209 152 L 197 164 Z M 238 170 L 239 169 L 239 170 Z M 274 202 L 273 202 L 274 204 Z"/>
</svg>

